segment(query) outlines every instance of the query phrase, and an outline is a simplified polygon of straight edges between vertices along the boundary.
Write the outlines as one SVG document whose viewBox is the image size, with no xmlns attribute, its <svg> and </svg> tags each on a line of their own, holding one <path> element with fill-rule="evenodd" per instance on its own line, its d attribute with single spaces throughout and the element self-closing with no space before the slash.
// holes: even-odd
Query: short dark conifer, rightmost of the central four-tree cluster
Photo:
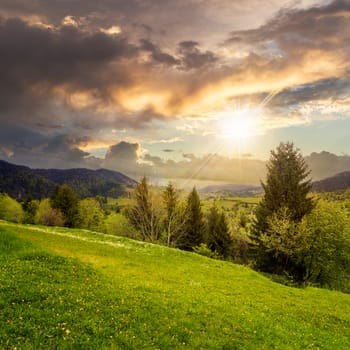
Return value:
<svg viewBox="0 0 350 350">
<path fill-rule="evenodd" d="M 214 204 L 208 215 L 208 237 L 209 249 L 219 256 L 227 258 L 232 255 L 232 239 L 229 233 L 226 216 L 219 212 Z"/>
</svg>

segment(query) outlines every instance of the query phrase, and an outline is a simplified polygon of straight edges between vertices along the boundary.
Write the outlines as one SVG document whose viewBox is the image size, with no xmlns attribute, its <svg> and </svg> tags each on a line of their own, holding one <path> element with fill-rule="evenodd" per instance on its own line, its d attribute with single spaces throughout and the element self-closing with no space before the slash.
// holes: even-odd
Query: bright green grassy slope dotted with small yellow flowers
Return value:
<svg viewBox="0 0 350 350">
<path fill-rule="evenodd" d="M 350 295 L 88 231 L 0 222 L 0 284 L 0 348 L 350 348 Z"/>
</svg>

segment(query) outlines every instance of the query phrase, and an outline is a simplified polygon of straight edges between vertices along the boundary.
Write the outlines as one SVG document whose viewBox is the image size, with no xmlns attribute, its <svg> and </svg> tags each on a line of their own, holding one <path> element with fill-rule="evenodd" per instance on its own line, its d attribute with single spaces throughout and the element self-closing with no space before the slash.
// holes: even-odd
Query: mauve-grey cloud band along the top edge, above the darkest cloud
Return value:
<svg viewBox="0 0 350 350">
<path fill-rule="evenodd" d="M 236 1 L 235 9 L 244 2 Z M 193 32 L 196 25 L 212 26 L 217 23 L 213 13 L 225 14 L 230 11 L 230 3 L 228 0 L 215 3 L 197 0 L 2 0 L 0 10 L 12 16 L 40 16 L 56 25 L 64 17 L 74 16 L 88 21 L 89 25 L 110 26 L 117 22 L 123 26 L 143 27 L 143 32 L 152 28 L 153 33 L 171 36 L 175 30 L 176 35 L 185 35 Z"/>
</svg>

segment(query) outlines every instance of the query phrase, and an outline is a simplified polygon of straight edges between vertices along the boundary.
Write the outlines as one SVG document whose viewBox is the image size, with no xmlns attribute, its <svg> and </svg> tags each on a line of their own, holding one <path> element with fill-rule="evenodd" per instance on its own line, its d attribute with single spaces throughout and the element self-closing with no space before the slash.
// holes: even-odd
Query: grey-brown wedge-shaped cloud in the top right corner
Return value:
<svg viewBox="0 0 350 350">
<path fill-rule="evenodd" d="M 232 32 L 227 43 L 258 44 L 260 50 L 275 49 L 275 53 L 282 56 L 302 55 L 314 48 L 346 50 L 350 33 L 349 14 L 348 0 L 336 0 L 327 6 L 308 9 L 282 9 L 257 29 Z"/>
</svg>

